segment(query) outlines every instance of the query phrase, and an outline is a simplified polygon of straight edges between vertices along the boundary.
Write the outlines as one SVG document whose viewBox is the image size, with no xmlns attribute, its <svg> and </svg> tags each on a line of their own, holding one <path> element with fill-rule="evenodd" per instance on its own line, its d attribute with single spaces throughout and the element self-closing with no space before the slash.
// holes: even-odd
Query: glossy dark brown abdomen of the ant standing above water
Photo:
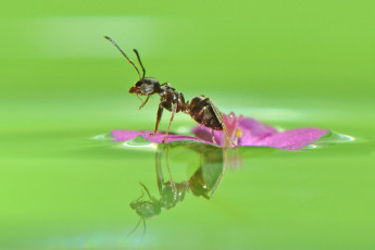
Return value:
<svg viewBox="0 0 375 250">
<path fill-rule="evenodd" d="M 189 110 L 190 116 L 197 123 L 214 130 L 223 130 L 223 123 L 218 120 L 209 98 L 204 96 L 192 98 Z"/>
</svg>

